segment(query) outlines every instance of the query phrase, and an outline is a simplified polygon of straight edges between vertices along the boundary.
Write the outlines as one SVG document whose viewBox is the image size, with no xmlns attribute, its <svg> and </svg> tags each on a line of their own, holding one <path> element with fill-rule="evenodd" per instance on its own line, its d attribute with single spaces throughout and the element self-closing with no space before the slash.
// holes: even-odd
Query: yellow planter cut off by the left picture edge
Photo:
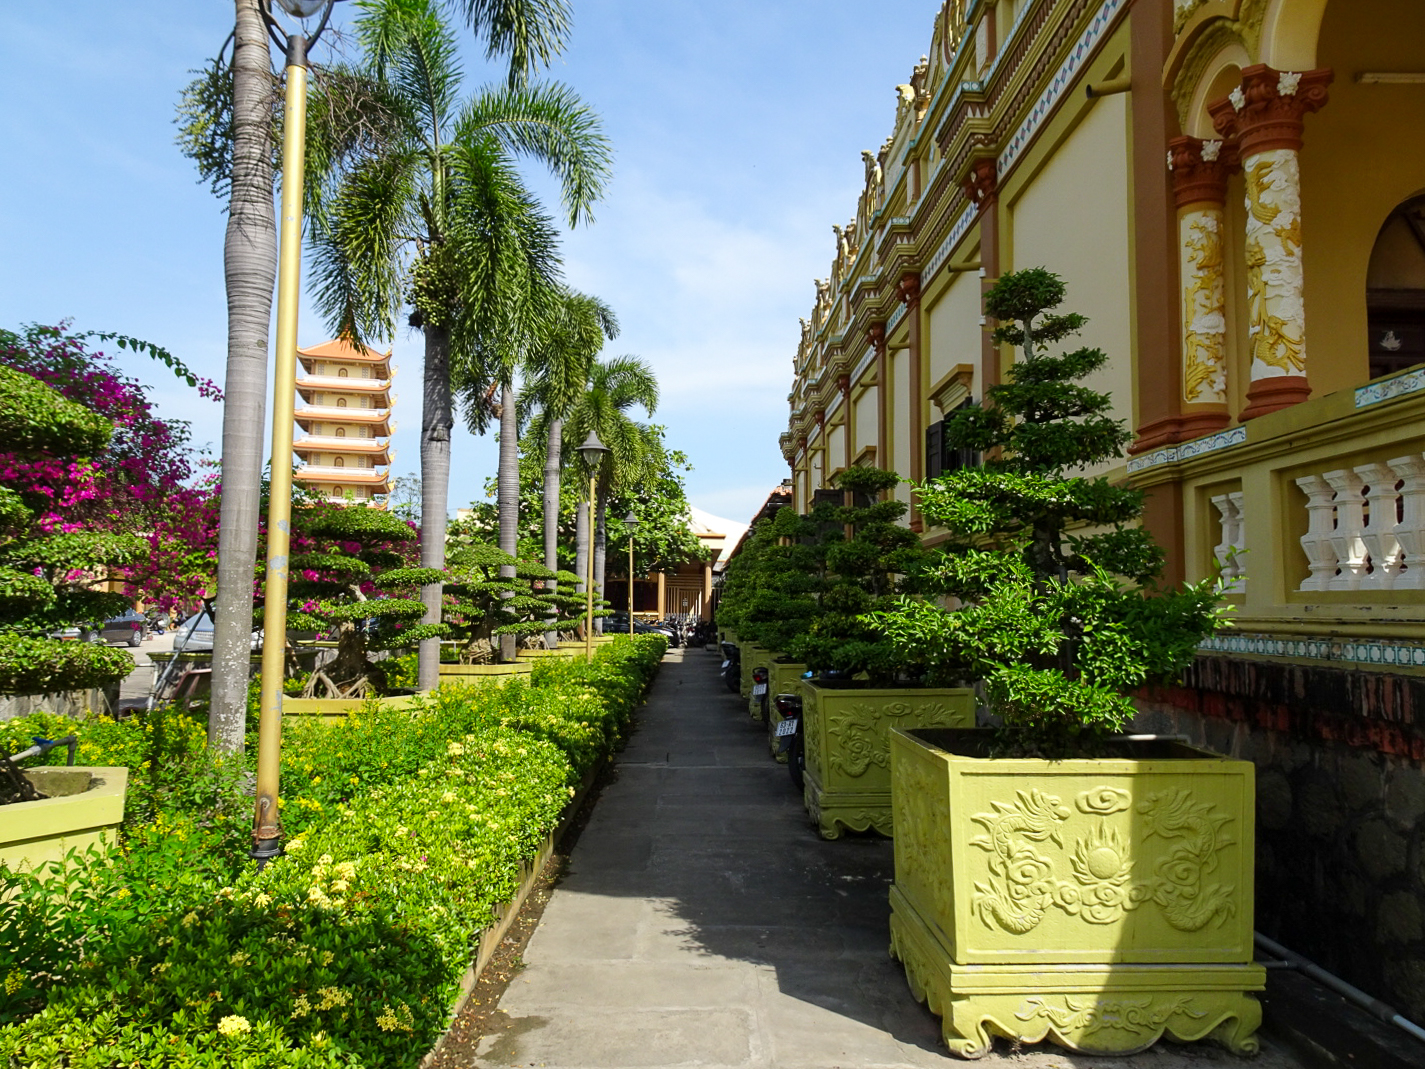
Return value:
<svg viewBox="0 0 1425 1069">
<path fill-rule="evenodd" d="M 127 768 L 43 767 L 26 770 L 26 778 L 50 797 L 0 805 L 0 867 L 37 868 L 114 841 L 124 821 Z"/>
</svg>

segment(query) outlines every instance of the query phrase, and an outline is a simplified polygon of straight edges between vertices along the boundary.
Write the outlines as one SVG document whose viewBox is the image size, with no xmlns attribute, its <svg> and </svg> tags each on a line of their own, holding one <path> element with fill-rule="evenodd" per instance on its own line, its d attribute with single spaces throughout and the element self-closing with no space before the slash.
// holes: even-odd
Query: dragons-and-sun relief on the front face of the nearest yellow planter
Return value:
<svg viewBox="0 0 1425 1069">
<path fill-rule="evenodd" d="M 1097 787 L 1076 800 L 1079 812 L 1097 818 L 1066 851 L 1063 825 L 1072 811 L 1059 797 L 1043 791 L 1017 791 L 1013 805 L 992 801 L 993 812 L 972 817 L 983 835 L 970 845 L 986 851 L 989 881 L 975 884 L 973 909 L 985 926 L 1023 935 L 1033 931 L 1050 908 L 1087 924 L 1116 924 L 1144 902 L 1154 902 L 1163 918 L 1181 932 L 1208 924 L 1223 925 L 1237 912 L 1235 888 L 1206 884 L 1218 867 L 1220 851 L 1233 844 L 1223 828 L 1231 822 L 1210 802 L 1197 802 L 1188 790 L 1149 794 L 1137 804 L 1144 830 L 1139 838 L 1168 841 L 1153 874 L 1134 881 L 1130 845 L 1109 817 L 1131 807 L 1127 791 Z M 1059 879 L 1052 859 L 1035 847 L 1053 842 L 1069 852 L 1073 879 Z"/>
</svg>

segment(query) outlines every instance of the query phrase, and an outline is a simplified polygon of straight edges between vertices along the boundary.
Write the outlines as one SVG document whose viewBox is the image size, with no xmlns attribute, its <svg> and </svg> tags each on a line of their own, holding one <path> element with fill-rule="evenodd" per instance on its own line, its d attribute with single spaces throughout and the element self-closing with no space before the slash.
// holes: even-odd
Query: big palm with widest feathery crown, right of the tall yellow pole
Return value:
<svg viewBox="0 0 1425 1069">
<path fill-rule="evenodd" d="M 563 86 L 484 88 L 462 100 L 455 37 L 436 0 L 363 0 L 355 24 L 390 114 L 323 175 L 314 218 L 318 302 L 353 342 L 389 339 L 409 298 L 425 334 L 420 564 L 445 566 L 452 369 L 467 386 L 509 381 L 557 284 L 556 234 L 524 190 L 519 154 L 560 180 L 570 225 L 608 172 L 597 117 Z M 487 412 L 475 413 L 484 426 Z M 440 621 L 442 584 L 422 590 Z M 439 683 L 439 641 L 420 643 L 420 688 Z"/>
</svg>

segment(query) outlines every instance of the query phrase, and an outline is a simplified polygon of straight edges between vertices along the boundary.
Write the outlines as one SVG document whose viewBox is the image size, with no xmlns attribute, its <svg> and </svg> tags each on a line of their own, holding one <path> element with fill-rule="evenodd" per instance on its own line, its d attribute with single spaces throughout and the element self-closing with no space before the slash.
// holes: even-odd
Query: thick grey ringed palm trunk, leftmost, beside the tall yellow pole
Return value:
<svg viewBox="0 0 1425 1069">
<path fill-rule="evenodd" d="M 232 198 L 222 242 L 228 366 L 222 406 L 222 497 L 212 631 L 208 745 L 239 753 L 247 728 L 252 579 L 262 497 L 268 332 L 276 285 L 272 207 L 272 63 L 258 0 L 235 0 L 232 41 Z M 279 458 L 289 463 L 291 458 Z M 282 641 L 284 636 L 274 636 Z"/>
</svg>

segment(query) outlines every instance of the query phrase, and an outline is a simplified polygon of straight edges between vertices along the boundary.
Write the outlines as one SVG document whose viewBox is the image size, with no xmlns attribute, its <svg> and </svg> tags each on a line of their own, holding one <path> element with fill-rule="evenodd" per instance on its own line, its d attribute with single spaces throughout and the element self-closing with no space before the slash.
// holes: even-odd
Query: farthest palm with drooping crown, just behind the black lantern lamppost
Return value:
<svg viewBox="0 0 1425 1069">
<path fill-rule="evenodd" d="M 594 554 L 597 592 L 604 589 L 608 495 L 616 489 L 637 486 L 661 466 L 663 446 L 657 432 L 628 415 L 636 406 L 653 415 L 658 408 L 658 379 L 653 368 L 637 356 L 616 356 L 607 362 L 594 362 L 589 389 L 574 402 L 564 420 L 564 433 L 570 440 L 581 442 L 594 430 L 598 440 L 608 446 L 596 489 L 594 530 L 589 532 L 587 522 L 581 519 L 577 534 L 583 569 L 589 567 L 587 554 Z M 587 470 L 583 477 L 587 482 Z M 583 574 L 587 572 L 580 570 L 580 576 Z"/>
</svg>

